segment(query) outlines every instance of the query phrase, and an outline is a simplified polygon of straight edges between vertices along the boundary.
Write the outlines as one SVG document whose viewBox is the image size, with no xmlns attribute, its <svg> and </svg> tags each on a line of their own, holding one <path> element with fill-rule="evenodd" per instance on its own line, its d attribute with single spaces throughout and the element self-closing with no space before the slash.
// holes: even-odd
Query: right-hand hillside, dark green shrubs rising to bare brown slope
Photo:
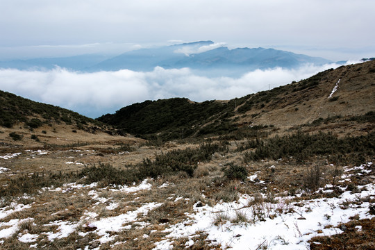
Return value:
<svg viewBox="0 0 375 250">
<path fill-rule="evenodd" d="M 289 129 L 334 117 L 349 119 L 374 111 L 374 96 L 375 61 L 370 61 L 230 101 L 145 101 L 98 120 L 146 138 L 181 138 L 182 131 L 185 137 L 222 135 L 249 125 Z"/>
</svg>

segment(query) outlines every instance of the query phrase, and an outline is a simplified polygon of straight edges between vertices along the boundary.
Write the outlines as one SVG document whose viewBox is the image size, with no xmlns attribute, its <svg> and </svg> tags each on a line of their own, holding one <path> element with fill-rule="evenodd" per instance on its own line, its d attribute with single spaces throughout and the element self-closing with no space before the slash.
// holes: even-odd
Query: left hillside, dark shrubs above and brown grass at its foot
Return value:
<svg viewBox="0 0 375 250">
<path fill-rule="evenodd" d="M 122 133 L 71 110 L 0 90 L 1 147 L 51 147 L 94 141 L 133 140 L 118 134 Z"/>
</svg>

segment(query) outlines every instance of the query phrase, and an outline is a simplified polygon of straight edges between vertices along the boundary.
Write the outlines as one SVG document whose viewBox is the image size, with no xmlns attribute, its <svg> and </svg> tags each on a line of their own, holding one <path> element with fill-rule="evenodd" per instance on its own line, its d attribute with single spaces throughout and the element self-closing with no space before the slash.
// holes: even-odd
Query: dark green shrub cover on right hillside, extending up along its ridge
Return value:
<svg viewBox="0 0 375 250">
<path fill-rule="evenodd" d="M 240 128 L 237 123 L 240 115 L 253 110 L 258 112 L 251 114 L 251 118 L 260 117 L 285 102 L 285 94 L 288 93 L 298 92 L 303 97 L 316 89 L 332 70 L 328 69 L 299 83 L 293 82 L 230 101 L 195 103 L 183 98 L 144 101 L 117 110 L 113 115 L 103 115 L 98 120 L 147 140 L 228 135 Z M 335 97 L 333 101 L 337 99 Z"/>
</svg>

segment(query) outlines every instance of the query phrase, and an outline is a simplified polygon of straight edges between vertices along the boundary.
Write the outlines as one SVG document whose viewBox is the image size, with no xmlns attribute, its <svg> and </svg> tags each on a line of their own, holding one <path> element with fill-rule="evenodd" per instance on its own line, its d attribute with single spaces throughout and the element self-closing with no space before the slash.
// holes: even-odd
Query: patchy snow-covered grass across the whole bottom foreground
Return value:
<svg viewBox="0 0 375 250">
<path fill-rule="evenodd" d="M 369 176 L 372 174 L 370 166 L 372 163 L 347 167 L 340 177 L 342 181 L 349 182 L 352 176 Z M 254 181 L 256 178 L 258 174 L 253 173 L 248 180 Z M 60 188 L 44 188 L 41 192 L 85 195 L 92 201 L 92 205 L 78 219 L 51 220 L 42 225 L 44 228 L 51 228 L 51 231 L 44 230 L 40 233 L 19 230 L 25 223 L 36 225 L 34 217 L 17 219 L 14 216 L 15 213 L 22 215 L 23 212 L 31 210 L 34 203 L 24 205 L 18 199 L 6 205 L 6 201 L 1 199 L 0 248 L 4 240 L 14 235 L 17 235 L 19 242 L 38 249 L 41 238 L 53 242 L 67 238 L 73 233 L 82 238 L 89 234 L 97 235 L 97 245 L 92 245 L 94 247 L 91 249 L 99 249 L 100 244 L 110 244 L 112 247 L 122 244 L 124 242 L 117 238 L 117 233 L 133 230 L 134 224 L 137 224 L 138 228 L 147 228 L 150 222 L 144 221 L 143 218 L 163 206 L 163 202 L 140 202 L 138 193 L 153 189 L 161 192 L 163 188 L 174 188 L 174 184 L 155 185 L 154 182 L 151 184 L 151 180 L 144 180 L 133 186 L 98 188 L 97 183 L 67 183 Z M 222 249 L 309 249 L 308 240 L 315 236 L 342 233 L 338 225 L 349 222 L 351 217 L 374 217 L 369 214 L 370 201 L 375 199 L 373 181 L 366 185 L 358 185 L 356 192 L 347 190 L 345 185 L 326 185 L 317 190 L 317 194 L 329 194 L 338 188 L 342 193 L 331 198 L 327 196 L 306 199 L 306 193 L 299 192 L 294 196 L 279 195 L 271 203 L 263 199 L 265 195 L 259 197 L 258 194 L 257 197 L 255 194 L 239 193 L 240 198 L 233 202 L 219 201 L 209 206 L 199 201 L 192 205 L 190 213 L 185 213 L 185 219 L 174 224 L 160 222 L 160 233 L 163 233 L 163 236 L 151 244 L 153 249 L 172 249 L 176 240 L 185 238 L 185 247 L 188 248 L 194 244 L 194 239 L 205 233 L 206 244 L 220 246 Z M 119 201 L 123 198 L 115 201 L 113 197 L 104 195 L 108 192 L 126 194 L 131 199 L 120 205 Z M 205 197 L 205 194 L 202 192 L 201 196 Z M 172 195 L 167 201 L 188 204 L 189 199 Z M 131 204 L 128 208 L 124 206 L 127 203 Z M 125 208 L 126 210 L 122 210 Z M 107 215 L 101 216 L 99 210 L 106 210 Z M 360 231 L 360 226 L 357 229 Z M 150 232 L 154 233 L 155 230 L 150 228 L 149 233 L 144 233 L 142 238 L 151 238 Z"/>
</svg>

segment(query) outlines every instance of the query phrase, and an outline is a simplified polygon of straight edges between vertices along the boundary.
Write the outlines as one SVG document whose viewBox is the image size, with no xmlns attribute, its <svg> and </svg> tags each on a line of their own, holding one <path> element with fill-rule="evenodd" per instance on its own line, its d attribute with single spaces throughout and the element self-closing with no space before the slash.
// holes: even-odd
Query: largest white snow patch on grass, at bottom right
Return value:
<svg viewBox="0 0 375 250">
<path fill-rule="evenodd" d="M 367 213 L 368 202 L 360 205 L 356 203 L 363 197 L 370 196 L 374 199 L 374 185 L 358 188 L 363 190 L 359 194 L 347 191 L 340 198 L 299 201 L 303 206 L 290 203 L 288 210 L 287 207 L 278 210 L 285 206 L 282 200 L 275 204 L 259 204 L 258 209 L 254 208 L 256 205 L 246 206 L 249 197 L 244 195 L 239 201 L 232 203 L 217 203 L 213 207 L 194 206 L 195 213 L 188 215 L 190 219 L 167 228 L 167 239 L 158 242 L 155 249 L 171 249 L 174 238 L 186 237 L 191 240 L 197 231 L 207 233 L 206 240 L 221 244 L 223 249 L 257 249 L 260 244 L 267 249 L 306 249 L 309 246 L 308 240 L 315 236 L 342 233 L 339 228 L 325 226 L 349 222 L 349 217 L 354 215 L 359 215 L 360 219 L 374 217 Z M 343 206 L 349 201 L 356 204 Z M 249 223 L 231 222 L 239 211 L 248 217 Z M 228 220 L 215 225 L 215 218 L 219 213 L 225 214 Z"/>
</svg>

